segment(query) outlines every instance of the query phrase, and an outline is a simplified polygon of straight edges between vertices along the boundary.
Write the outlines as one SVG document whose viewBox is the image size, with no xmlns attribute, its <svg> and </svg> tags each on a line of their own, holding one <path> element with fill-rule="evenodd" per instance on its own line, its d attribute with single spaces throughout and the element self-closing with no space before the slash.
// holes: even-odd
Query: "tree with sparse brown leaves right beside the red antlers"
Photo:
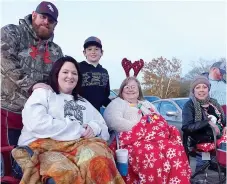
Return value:
<svg viewBox="0 0 227 184">
<path fill-rule="evenodd" d="M 161 98 L 176 97 L 180 91 L 181 60 L 172 58 L 168 60 L 160 57 L 145 63 L 143 73 L 143 86 L 150 95 Z"/>
</svg>

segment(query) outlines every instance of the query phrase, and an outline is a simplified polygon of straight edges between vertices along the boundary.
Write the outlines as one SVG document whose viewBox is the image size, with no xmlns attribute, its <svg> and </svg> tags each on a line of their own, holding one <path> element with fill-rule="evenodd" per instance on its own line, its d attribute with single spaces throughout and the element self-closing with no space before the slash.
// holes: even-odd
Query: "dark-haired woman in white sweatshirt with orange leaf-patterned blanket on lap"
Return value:
<svg viewBox="0 0 227 184">
<path fill-rule="evenodd" d="M 24 127 L 18 145 L 34 152 L 30 158 L 25 149 L 13 150 L 23 170 L 22 180 L 124 183 L 106 144 L 109 133 L 104 119 L 78 96 L 81 73 L 76 60 L 69 56 L 57 60 L 49 85 L 52 90 L 35 89 L 22 111 Z"/>
</svg>

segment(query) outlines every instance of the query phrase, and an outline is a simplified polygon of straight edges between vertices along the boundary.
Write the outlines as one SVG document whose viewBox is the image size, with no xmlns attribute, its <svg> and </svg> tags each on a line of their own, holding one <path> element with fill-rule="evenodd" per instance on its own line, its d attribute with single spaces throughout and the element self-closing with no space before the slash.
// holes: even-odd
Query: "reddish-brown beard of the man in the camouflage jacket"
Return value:
<svg viewBox="0 0 227 184">
<path fill-rule="evenodd" d="M 47 40 L 53 35 L 53 30 L 50 28 L 44 28 L 44 25 L 37 25 L 35 23 L 35 19 L 32 21 L 32 27 L 36 33 L 36 35 L 42 39 L 42 40 Z"/>
</svg>

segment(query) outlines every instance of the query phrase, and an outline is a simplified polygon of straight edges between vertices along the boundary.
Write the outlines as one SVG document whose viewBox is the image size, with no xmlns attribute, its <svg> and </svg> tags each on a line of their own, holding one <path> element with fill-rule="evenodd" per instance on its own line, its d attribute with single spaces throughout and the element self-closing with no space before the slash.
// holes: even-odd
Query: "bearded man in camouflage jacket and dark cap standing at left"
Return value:
<svg viewBox="0 0 227 184">
<path fill-rule="evenodd" d="M 7 117 L 16 113 L 19 115 L 12 123 L 21 124 L 19 116 L 29 89 L 38 81 L 45 81 L 53 62 L 63 56 L 53 42 L 57 18 L 55 5 L 43 1 L 32 14 L 20 19 L 19 25 L 1 28 L 2 121 L 7 122 Z"/>
</svg>

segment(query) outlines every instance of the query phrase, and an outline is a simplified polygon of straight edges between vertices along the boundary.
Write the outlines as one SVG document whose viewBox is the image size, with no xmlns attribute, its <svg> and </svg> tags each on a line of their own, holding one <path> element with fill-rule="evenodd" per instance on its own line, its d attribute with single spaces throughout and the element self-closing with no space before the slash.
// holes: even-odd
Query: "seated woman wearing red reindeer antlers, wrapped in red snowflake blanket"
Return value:
<svg viewBox="0 0 227 184">
<path fill-rule="evenodd" d="M 104 112 L 108 127 L 119 133 L 119 148 L 129 152 L 128 175 L 124 179 L 128 184 L 189 184 L 191 169 L 179 131 L 143 98 L 136 79 L 143 65 L 143 60 L 122 60 L 127 78 L 121 84 L 119 97 Z M 134 76 L 129 76 L 130 69 Z M 116 148 L 116 141 L 110 147 Z"/>
</svg>

